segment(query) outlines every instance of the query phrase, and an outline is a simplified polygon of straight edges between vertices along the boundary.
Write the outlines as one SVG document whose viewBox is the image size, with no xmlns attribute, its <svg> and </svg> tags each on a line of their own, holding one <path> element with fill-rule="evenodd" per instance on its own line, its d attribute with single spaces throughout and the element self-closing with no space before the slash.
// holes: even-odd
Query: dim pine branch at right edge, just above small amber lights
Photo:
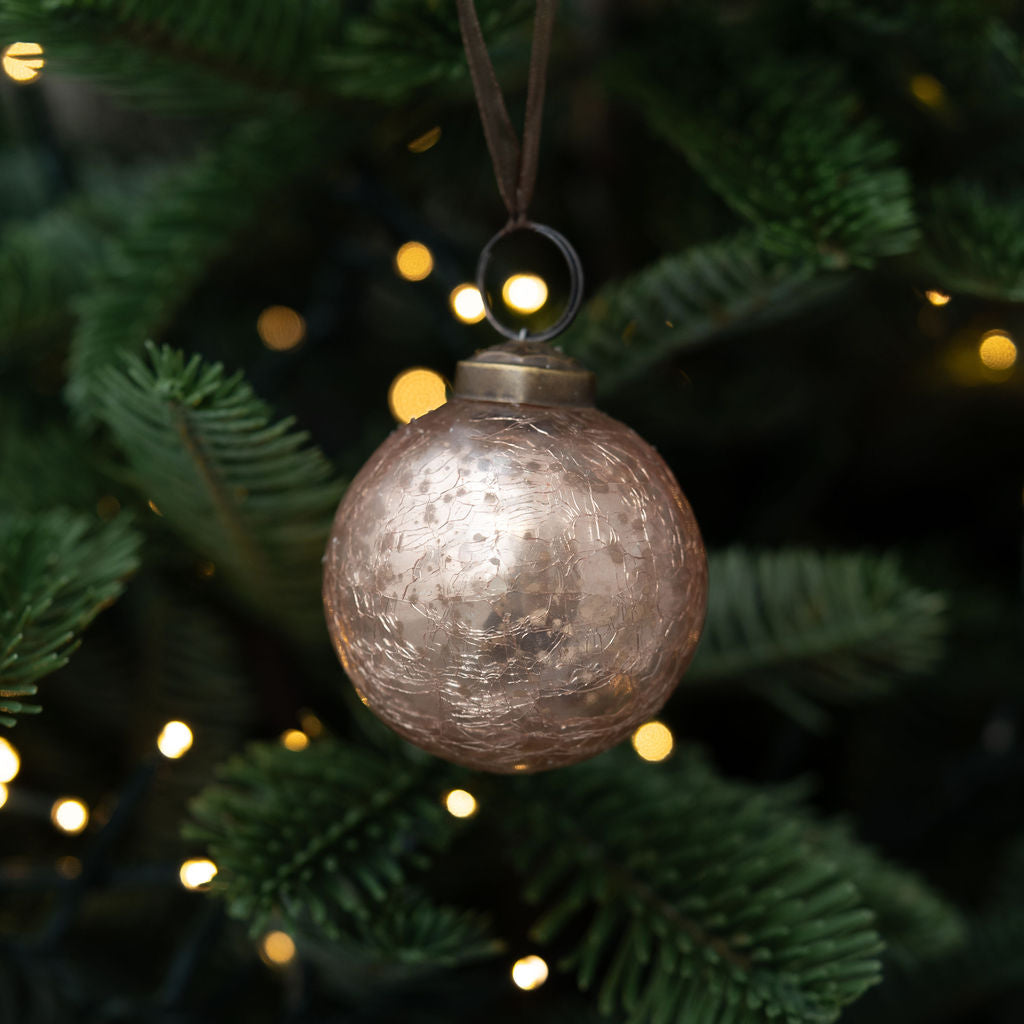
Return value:
<svg viewBox="0 0 1024 1024">
<path fill-rule="evenodd" d="M 922 223 L 924 239 L 910 263 L 930 287 L 1024 300 L 1024 201 L 1018 195 L 954 182 L 928 195 Z"/>
</svg>

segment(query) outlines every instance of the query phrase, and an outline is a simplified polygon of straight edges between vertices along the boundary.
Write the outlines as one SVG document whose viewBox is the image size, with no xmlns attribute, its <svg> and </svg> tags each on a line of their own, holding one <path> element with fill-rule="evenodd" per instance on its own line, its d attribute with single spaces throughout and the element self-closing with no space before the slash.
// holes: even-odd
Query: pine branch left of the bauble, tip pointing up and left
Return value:
<svg viewBox="0 0 1024 1024">
<path fill-rule="evenodd" d="M 321 556 L 341 497 L 331 464 L 294 420 L 273 422 L 241 373 L 147 348 L 146 362 L 99 376 L 99 414 L 132 482 L 245 603 L 318 638 Z"/>
</svg>

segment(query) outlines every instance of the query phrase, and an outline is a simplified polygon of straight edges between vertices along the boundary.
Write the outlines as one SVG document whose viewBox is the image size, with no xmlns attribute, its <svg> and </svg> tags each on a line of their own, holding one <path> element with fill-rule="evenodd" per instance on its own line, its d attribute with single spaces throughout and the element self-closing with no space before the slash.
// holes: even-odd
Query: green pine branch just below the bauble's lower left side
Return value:
<svg viewBox="0 0 1024 1024">
<path fill-rule="evenodd" d="M 209 845 L 218 891 L 254 934 L 280 921 L 384 959 L 453 964 L 493 951 L 481 919 L 409 888 L 459 827 L 440 803 L 449 771 L 335 740 L 254 744 L 196 799 L 186 836 Z"/>
</svg>

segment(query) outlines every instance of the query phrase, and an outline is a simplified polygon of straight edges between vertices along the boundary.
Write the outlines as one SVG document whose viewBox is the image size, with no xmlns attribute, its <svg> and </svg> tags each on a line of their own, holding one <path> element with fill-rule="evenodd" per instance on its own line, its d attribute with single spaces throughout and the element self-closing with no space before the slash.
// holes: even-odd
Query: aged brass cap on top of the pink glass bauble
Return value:
<svg viewBox="0 0 1024 1024">
<path fill-rule="evenodd" d="M 455 393 L 477 401 L 593 406 L 594 375 L 543 341 L 507 341 L 456 366 Z"/>
</svg>

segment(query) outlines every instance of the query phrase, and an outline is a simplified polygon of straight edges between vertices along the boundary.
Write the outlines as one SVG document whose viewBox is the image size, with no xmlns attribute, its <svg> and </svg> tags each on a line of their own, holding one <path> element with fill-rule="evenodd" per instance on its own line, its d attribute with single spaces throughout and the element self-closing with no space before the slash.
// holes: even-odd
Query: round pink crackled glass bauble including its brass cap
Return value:
<svg viewBox="0 0 1024 1024">
<path fill-rule="evenodd" d="M 338 655 L 362 702 L 438 757 L 582 761 L 651 718 L 693 655 L 696 520 L 657 453 L 587 404 L 591 382 L 547 346 L 479 353 L 338 508 L 324 573 Z"/>
</svg>

